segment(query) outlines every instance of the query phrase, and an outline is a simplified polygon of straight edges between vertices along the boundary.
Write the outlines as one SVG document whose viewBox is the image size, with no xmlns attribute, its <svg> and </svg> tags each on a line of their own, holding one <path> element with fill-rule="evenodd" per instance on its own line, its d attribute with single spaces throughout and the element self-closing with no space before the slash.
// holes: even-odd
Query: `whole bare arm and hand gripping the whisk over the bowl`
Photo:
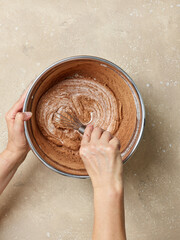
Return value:
<svg viewBox="0 0 180 240">
<path fill-rule="evenodd" d="M 108 131 L 88 126 L 80 155 L 94 188 L 93 240 L 125 240 L 123 165 L 120 143 Z"/>
</svg>

